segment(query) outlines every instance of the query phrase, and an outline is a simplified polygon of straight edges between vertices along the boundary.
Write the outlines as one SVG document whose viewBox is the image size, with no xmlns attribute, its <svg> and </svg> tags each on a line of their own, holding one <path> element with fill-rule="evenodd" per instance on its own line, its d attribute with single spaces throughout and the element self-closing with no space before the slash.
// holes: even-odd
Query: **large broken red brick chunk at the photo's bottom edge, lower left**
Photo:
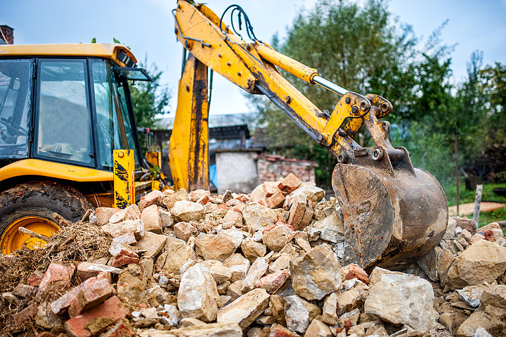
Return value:
<svg viewBox="0 0 506 337">
<path fill-rule="evenodd" d="M 72 337 L 97 336 L 127 314 L 130 314 L 130 311 L 119 298 L 112 296 L 93 309 L 69 319 L 65 322 L 65 330 Z"/>
</svg>

